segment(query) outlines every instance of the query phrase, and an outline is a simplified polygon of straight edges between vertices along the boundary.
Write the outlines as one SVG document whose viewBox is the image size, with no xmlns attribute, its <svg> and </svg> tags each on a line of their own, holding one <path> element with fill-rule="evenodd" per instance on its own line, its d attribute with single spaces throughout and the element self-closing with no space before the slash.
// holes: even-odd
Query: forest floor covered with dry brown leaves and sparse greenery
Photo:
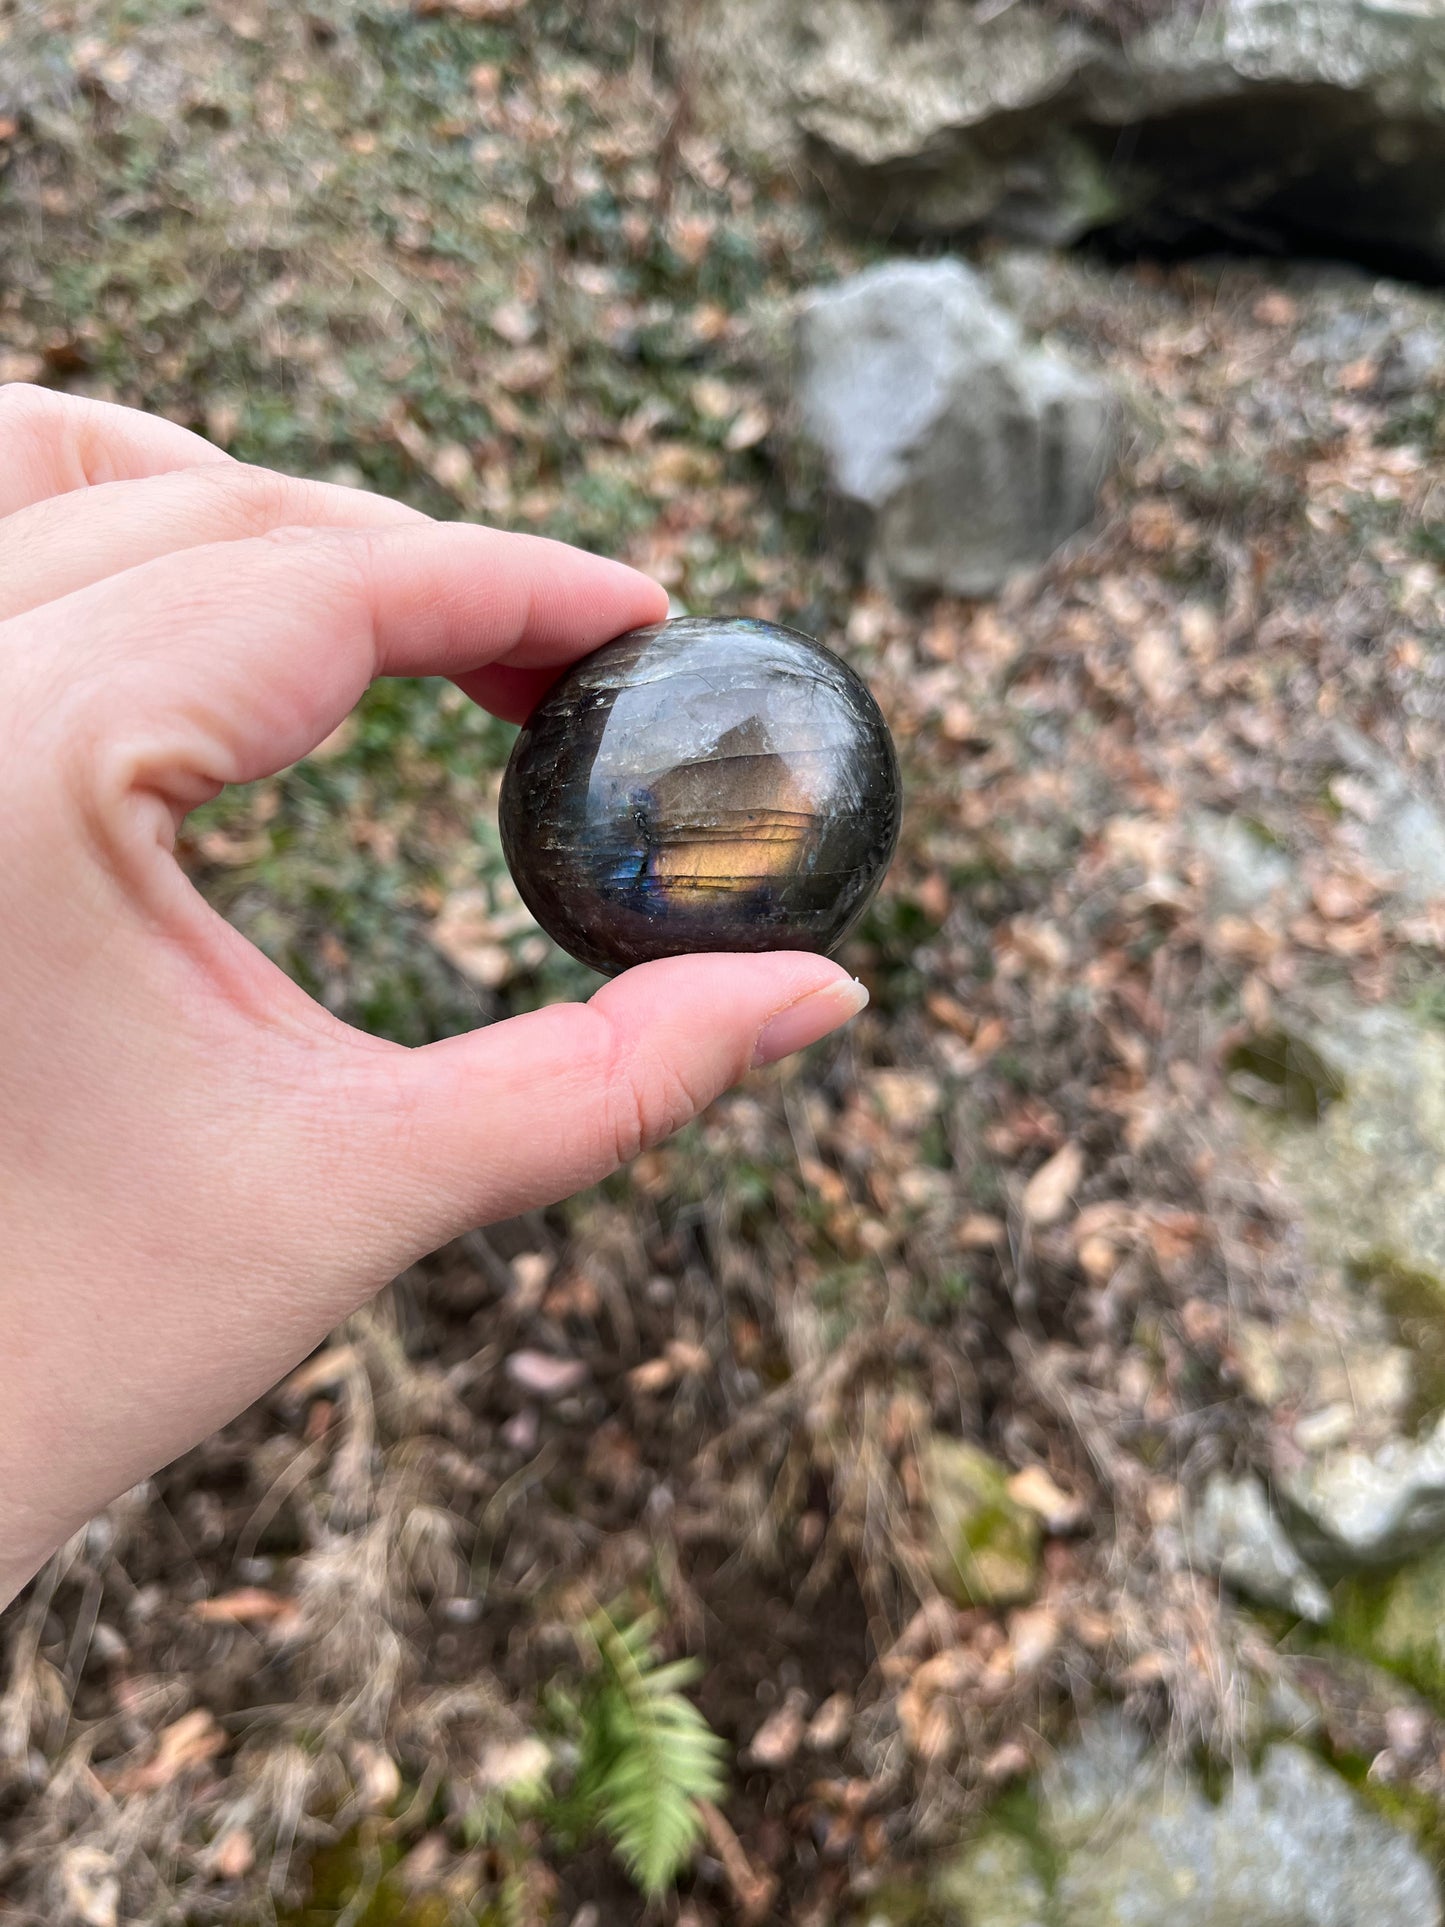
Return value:
<svg viewBox="0 0 1445 1927">
<path fill-rule="evenodd" d="M 1445 306 L 981 256 L 1131 426 L 1087 538 L 902 609 L 836 557 L 773 376 L 788 301 L 869 258 L 690 125 L 620 8 L 0 0 L 0 378 L 788 620 L 907 784 L 842 1043 L 420 1264 L 0 1621 L 6 1927 L 642 1917 L 565 1823 L 599 1605 L 657 1609 L 732 1754 L 661 1910 L 692 1927 L 867 1917 L 1089 1707 L 1227 1761 L 1308 1671 L 1333 1757 L 1387 1746 L 1393 1688 L 1179 1522 L 1260 1457 L 1241 1320 L 1310 1291 L 1231 1052 L 1310 985 L 1445 1023 L 1445 917 L 1339 800 L 1343 728 L 1445 794 Z M 185 861 L 405 1043 L 586 994 L 501 863 L 509 736 L 378 686 Z M 1302 906 L 1220 911 L 1202 817 Z M 1027 1603 L 934 1594 L 934 1434 L 1040 1515 Z"/>
</svg>

